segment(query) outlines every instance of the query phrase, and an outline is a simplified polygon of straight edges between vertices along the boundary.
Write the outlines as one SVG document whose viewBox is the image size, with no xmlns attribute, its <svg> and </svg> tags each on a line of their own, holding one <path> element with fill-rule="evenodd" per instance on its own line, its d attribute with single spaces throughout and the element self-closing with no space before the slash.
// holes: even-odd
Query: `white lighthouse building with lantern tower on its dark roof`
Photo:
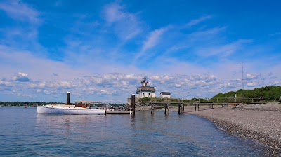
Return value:
<svg viewBox="0 0 281 157">
<path fill-rule="evenodd" d="M 138 87 L 136 89 L 136 97 L 137 98 L 143 98 L 143 97 L 155 97 L 155 88 L 148 86 L 148 81 L 146 78 L 143 78 L 141 81 L 141 87 Z"/>
</svg>

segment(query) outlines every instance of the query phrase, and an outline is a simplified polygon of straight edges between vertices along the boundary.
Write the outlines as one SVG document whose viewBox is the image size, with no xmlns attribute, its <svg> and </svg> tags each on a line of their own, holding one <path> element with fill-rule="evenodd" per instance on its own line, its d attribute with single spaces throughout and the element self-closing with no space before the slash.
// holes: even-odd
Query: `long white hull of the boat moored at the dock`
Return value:
<svg viewBox="0 0 281 157">
<path fill-rule="evenodd" d="M 105 109 L 85 109 L 70 106 L 37 106 L 37 114 L 105 114 Z"/>
</svg>

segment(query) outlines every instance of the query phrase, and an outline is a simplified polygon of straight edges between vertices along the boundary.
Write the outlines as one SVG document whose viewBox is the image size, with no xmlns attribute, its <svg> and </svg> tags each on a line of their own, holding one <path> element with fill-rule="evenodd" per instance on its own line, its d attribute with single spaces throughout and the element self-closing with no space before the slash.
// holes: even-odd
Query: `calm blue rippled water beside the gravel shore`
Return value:
<svg viewBox="0 0 281 157">
<path fill-rule="evenodd" d="M 0 156 L 263 156 L 265 146 L 197 116 L 39 115 L 0 108 Z"/>
</svg>

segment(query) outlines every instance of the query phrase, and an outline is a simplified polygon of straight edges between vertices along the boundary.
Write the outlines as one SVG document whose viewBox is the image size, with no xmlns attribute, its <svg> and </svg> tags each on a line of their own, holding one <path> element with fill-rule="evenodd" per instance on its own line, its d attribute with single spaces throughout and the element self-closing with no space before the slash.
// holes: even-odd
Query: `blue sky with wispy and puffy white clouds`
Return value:
<svg viewBox="0 0 281 157">
<path fill-rule="evenodd" d="M 280 6 L 0 1 L 0 101 L 126 103 L 142 78 L 181 99 L 280 86 Z"/>
</svg>

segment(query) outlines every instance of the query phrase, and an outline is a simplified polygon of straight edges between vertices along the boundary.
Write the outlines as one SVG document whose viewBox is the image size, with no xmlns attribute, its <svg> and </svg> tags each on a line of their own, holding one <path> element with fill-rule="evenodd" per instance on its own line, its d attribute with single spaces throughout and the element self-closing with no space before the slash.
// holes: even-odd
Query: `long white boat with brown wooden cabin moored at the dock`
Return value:
<svg viewBox="0 0 281 157">
<path fill-rule="evenodd" d="M 37 106 L 37 114 L 105 114 L 105 109 L 92 108 L 93 101 L 77 101 L 75 104 L 47 104 Z"/>
</svg>

